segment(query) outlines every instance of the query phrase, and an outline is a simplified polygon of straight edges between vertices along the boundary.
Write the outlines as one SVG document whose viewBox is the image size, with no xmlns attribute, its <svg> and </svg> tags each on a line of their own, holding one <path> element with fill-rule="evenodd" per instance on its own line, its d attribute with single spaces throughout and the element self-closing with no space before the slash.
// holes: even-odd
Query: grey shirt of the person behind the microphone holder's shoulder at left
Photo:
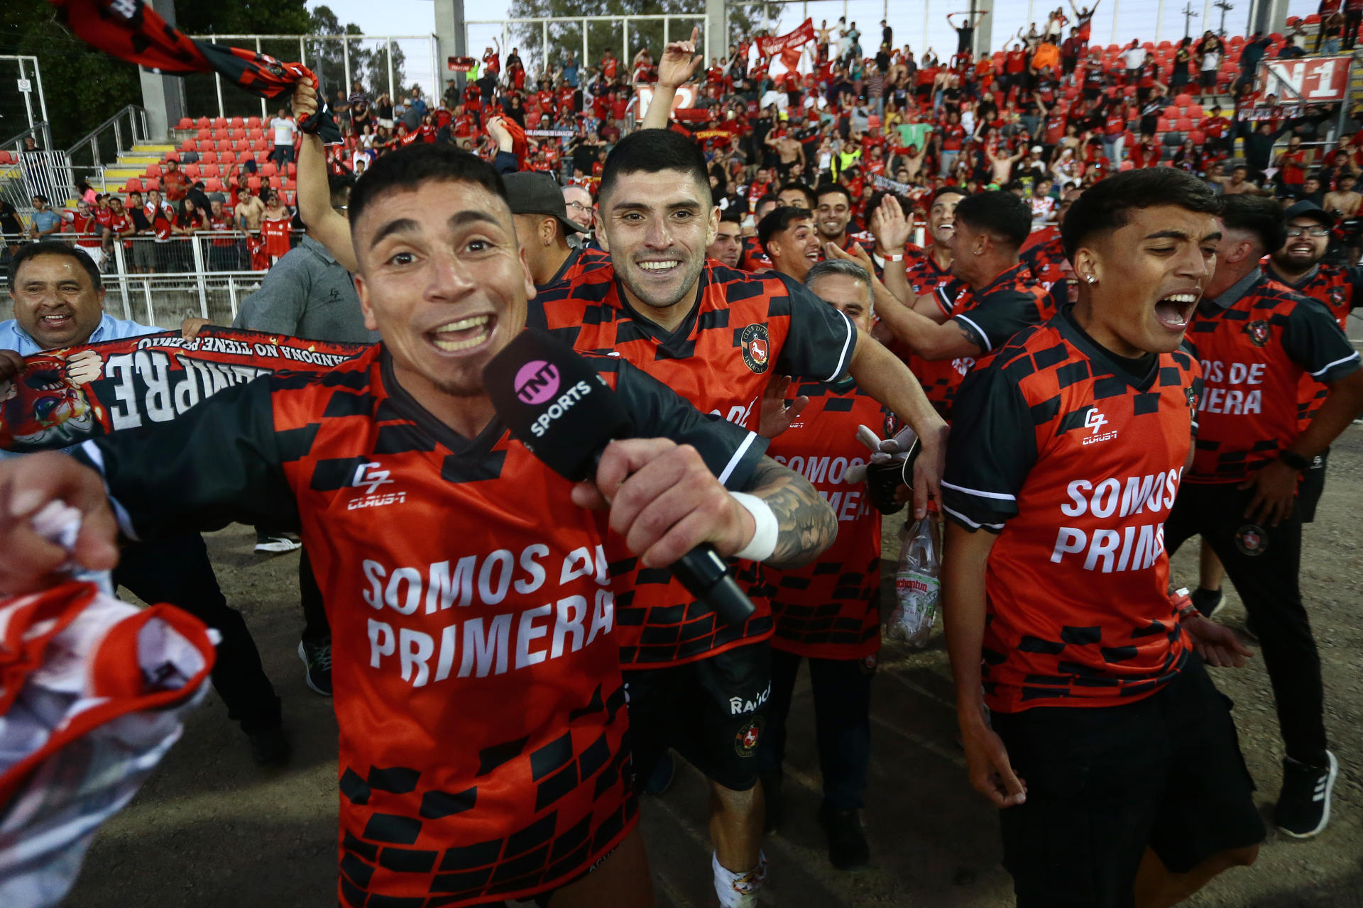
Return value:
<svg viewBox="0 0 1363 908">
<path fill-rule="evenodd" d="M 312 237 L 304 237 L 270 268 L 260 289 L 241 304 L 232 327 L 311 340 L 379 340 L 378 331 L 364 327 L 350 272 Z"/>
</svg>

